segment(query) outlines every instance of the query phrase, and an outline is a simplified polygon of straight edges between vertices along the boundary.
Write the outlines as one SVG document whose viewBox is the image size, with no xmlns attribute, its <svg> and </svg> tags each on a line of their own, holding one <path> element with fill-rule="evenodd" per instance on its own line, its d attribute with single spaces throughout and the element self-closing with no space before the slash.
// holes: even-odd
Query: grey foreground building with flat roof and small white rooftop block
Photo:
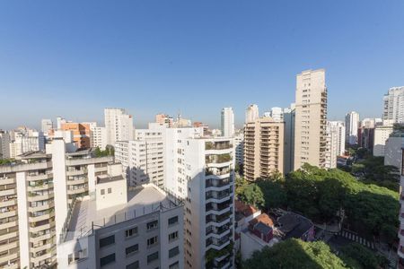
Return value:
<svg viewBox="0 0 404 269">
<path fill-rule="evenodd" d="M 184 267 L 182 202 L 153 184 L 127 191 L 119 176 L 96 178 L 75 200 L 59 237 L 59 268 Z"/>
</svg>

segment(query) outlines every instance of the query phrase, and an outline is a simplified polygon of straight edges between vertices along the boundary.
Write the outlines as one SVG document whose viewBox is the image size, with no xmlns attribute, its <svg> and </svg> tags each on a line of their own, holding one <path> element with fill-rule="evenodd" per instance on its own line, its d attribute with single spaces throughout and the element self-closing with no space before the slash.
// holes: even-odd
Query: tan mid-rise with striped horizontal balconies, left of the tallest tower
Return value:
<svg viewBox="0 0 404 269">
<path fill-rule="evenodd" d="M 260 117 L 244 128 L 244 176 L 253 181 L 284 171 L 285 123 Z"/>
</svg>

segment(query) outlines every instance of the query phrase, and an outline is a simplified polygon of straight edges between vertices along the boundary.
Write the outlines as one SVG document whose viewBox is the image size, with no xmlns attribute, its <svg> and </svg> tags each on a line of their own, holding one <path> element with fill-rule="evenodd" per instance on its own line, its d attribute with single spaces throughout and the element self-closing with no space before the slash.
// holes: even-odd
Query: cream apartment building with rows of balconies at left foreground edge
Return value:
<svg viewBox="0 0 404 269">
<path fill-rule="evenodd" d="M 57 262 L 57 234 L 75 198 L 86 195 L 97 176 L 108 173 L 113 157 L 66 152 L 55 138 L 45 152 L 27 152 L 0 166 L 0 267 L 40 268 Z M 119 167 L 120 172 L 120 167 Z M 6 267 L 8 268 L 8 267 Z"/>
</svg>

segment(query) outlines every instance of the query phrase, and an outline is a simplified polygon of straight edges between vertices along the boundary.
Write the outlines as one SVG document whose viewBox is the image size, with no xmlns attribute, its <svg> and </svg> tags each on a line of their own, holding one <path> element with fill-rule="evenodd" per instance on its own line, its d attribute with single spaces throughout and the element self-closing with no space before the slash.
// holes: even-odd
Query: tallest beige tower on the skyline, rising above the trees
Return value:
<svg viewBox="0 0 404 269">
<path fill-rule="evenodd" d="M 304 163 L 325 167 L 327 155 L 327 87 L 325 70 L 296 77 L 294 169 Z"/>
</svg>

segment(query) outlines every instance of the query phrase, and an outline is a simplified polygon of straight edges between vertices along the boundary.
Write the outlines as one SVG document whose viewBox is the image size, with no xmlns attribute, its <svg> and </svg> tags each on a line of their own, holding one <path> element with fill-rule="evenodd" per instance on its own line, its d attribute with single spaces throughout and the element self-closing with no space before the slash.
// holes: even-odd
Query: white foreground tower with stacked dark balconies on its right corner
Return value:
<svg viewBox="0 0 404 269">
<path fill-rule="evenodd" d="M 185 268 L 233 268 L 233 139 L 165 132 L 164 187 L 185 201 Z"/>
</svg>

